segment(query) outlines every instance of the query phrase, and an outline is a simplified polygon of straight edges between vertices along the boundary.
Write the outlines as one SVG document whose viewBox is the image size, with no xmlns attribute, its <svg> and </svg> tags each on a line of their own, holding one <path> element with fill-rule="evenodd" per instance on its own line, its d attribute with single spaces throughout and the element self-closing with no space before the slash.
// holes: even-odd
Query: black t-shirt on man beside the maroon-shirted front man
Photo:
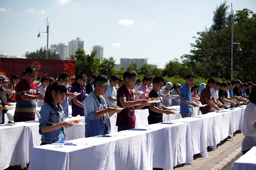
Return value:
<svg viewBox="0 0 256 170">
<path fill-rule="evenodd" d="M 155 106 L 159 109 L 163 109 L 160 93 L 157 93 L 156 91 L 151 90 L 150 94 L 148 94 L 148 98 L 157 98 L 157 100 L 161 100 L 160 102 L 155 103 Z M 163 122 L 163 113 L 156 113 L 152 111 L 149 106 L 148 106 L 148 112 L 150 112 L 150 115 L 148 115 L 147 117 L 148 124 L 157 124 L 157 123 Z"/>
</svg>

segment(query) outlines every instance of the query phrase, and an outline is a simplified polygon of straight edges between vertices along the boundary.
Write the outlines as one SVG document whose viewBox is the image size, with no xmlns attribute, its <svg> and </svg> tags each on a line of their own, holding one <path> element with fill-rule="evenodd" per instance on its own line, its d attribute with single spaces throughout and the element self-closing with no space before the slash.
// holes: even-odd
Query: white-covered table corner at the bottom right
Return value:
<svg viewBox="0 0 256 170">
<path fill-rule="evenodd" d="M 233 162 L 231 170 L 256 169 L 256 147 Z"/>
</svg>

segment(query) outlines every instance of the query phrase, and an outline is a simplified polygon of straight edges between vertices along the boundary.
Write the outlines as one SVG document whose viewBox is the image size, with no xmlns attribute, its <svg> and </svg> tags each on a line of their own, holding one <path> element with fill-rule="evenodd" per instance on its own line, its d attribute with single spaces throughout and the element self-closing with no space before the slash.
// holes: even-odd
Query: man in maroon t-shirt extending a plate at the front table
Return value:
<svg viewBox="0 0 256 170">
<path fill-rule="evenodd" d="M 136 81 L 137 74 L 134 70 L 126 70 L 123 73 L 124 84 L 117 91 L 117 106 L 125 108 L 117 113 L 116 126 L 118 132 L 133 129 L 135 127 L 135 110 L 148 106 L 147 100 L 134 101 L 133 91 L 130 89 Z"/>
</svg>

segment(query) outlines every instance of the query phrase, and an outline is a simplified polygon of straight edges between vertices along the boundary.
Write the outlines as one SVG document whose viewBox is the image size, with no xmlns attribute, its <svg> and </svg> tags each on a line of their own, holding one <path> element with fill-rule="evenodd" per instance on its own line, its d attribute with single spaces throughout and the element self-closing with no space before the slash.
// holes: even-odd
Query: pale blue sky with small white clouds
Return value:
<svg viewBox="0 0 256 170">
<path fill-rule="evenodd" d="M 49 47 L 79 37 L 84 50 L 103 45 L 104 57 L 148 58 L 160 68 L 189 54 L 193 36 L 212 25 L 217 5 L 224 1 L 108 1 L 108 0 L 0 0 L 0 52 L 25 55 L 46 46 L 46 17 L 50 23 Z M 233 10 L 256 13 L 256 1 L 227 1 Z M 235 34 L 235 33 L 234 33 Z M 231 36 L 231 35 L 230 35 Z"/>
</svg>

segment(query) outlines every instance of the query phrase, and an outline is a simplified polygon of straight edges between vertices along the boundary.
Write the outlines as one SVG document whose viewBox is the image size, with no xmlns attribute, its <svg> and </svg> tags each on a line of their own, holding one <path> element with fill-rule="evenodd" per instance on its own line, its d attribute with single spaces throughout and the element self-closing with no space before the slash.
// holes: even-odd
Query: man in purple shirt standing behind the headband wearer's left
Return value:
<svg viewBox="0 0 256 170">
<path fill-rule="evenodd" d="M 86 89 L 84 89 L 82 86 L 86 84 L 87 81 L 86 74 L 78 74 L 74 86 L 71 88 L 71 93 L 77 92 L 81 93 L 77 97 L 73 98 L 71 100 L 71 106 L 72 106 L 72 116 L 84 116 L 84 110 L 83 110 L 83 102 L 84 99 L 86 99 Z M 96 78 L 96 77 L 95 77 Z"/>
</svg>

